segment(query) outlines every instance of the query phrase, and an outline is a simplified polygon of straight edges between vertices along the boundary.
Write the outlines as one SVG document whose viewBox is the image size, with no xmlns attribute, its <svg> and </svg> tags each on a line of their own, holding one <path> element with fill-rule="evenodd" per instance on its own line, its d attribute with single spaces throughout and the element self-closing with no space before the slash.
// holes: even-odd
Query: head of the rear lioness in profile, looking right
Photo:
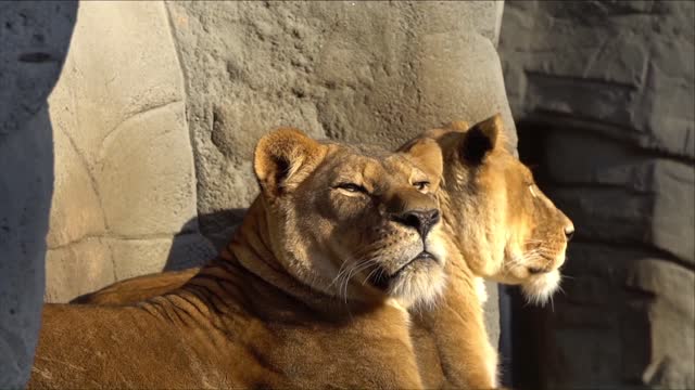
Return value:
<svg viewBox="0 0 695 390">
<path fill-rule="evenodd" d="M 438 141 L 446 161 L 441 207 L 466 262 L 479 276 L 521 285 L 529 301 L 543 304 L 559 287 L 574 227 L 503 136 L 495 115 L 470 128 L 453 122 L 430 130 L 402 151 Z"/>
</svg>

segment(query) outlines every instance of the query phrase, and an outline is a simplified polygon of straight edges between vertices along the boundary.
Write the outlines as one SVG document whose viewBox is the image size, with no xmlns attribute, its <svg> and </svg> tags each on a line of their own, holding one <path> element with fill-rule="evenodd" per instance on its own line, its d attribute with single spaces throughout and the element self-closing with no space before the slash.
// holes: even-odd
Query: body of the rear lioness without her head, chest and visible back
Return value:
<svg viewBox="0 0 695 390">
<path fill-rule="evenodd" d="M 490 389 L 496 382 L 496 354 L 486 341 L 480 299 L 480 278 L 458 253 L 450 253 L 447 287 L 432 308 L 412 309 L 410 337 L 426 389 Z M 455 265 L 462 265 L 455 268 Z M 163 272 L 115 283 L 76 299 L 75 303 L 127 304 L 182 286 L 198 269 Z M 472 282 L 471 282 L 472 281 Z M 483 286 L 484 288 L 484 286 Z M 391 304 L 402 307 L 397 302 Z"/>
</svg>

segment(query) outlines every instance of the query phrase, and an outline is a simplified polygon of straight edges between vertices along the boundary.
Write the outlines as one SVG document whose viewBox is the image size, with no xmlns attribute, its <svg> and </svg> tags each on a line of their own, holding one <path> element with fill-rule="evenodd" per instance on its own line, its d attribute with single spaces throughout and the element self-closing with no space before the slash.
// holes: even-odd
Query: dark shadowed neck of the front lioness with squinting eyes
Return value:
<svg viewBox="0 0 695 390">
<path fill-rule="evenodd" d="M 217 306 L 216 312 L 242 309 L 269 317 L 281 311 L 288 321 L 309 317 L 340 321 L 376 309 L 374 303 L 343 301 L 302 283 L 278 260 L 268 237 L 266 205 L 260 197 L 249 208 L 229 245 L 182 289 L 214 292 L 219 298 L 211 302 Z"/>
</svg>

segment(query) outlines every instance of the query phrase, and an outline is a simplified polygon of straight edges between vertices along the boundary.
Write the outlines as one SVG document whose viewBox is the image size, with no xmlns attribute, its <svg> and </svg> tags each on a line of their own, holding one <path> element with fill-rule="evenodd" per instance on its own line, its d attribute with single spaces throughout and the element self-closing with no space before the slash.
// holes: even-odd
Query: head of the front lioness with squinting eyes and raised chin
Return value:
<svg viewBox="0 0 695 390">
<path fill-rule="evenodd" d="M 254 170 L 269 246 L 303 283 L 348 299 L 431 302 L 444 285 L 444 233 L 434 194 L 441 151 L 405 156 L 317 142 L 280 129 L 258 142 Z"/>
</svg>

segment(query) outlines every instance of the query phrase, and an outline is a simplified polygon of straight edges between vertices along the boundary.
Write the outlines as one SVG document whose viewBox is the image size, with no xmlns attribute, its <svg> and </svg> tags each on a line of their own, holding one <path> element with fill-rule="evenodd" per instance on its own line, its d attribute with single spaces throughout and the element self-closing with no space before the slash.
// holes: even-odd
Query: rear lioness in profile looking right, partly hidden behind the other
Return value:
<svg viewBox="0 0 695 390">
<path fill-rule="evenodd" d="M 444 158 L 444 223 L 453 232 L 457 251 L 466 264 L 452 257 L 447 288 L 432 310 L 412 311 L 412 336 L 420 375 L 427 387 L 473 388 L 482 376 L 492 375 L 493 352 L 470 354 L 469 328 L 478 323 L 470 270 L 480 277 L 521 285 L 534 303 L 545 303 L 558 288 L 559 268 L 567 242 L 573 233 L 571 221 L 535 186 L 528 170 L 504 146 L 504 129 L 498 115 L 472 127 L 464 121 L 432 129 L 400 150 L 415 152 L 435 140 Z M 124 304 L 178 288 L 198 269 L 164 272 L 122 281 L 77 299 L 80 303 Z M 471 313 L 471 310 L 473 312 Z M 480 351 L 488 349 L 482 342 Z M 483 358 L 488 369 L 480 368 Z"/>
</svg>

